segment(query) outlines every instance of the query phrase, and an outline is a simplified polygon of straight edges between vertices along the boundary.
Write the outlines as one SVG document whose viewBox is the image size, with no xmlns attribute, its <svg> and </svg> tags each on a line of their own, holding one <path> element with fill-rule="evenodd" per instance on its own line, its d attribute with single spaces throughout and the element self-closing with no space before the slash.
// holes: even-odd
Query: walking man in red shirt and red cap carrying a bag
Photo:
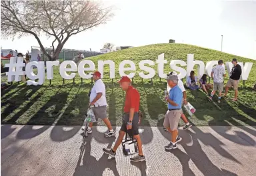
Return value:
<svg viewBox="0 0 256 176">
<path fill-rule="evenodd" d="M 125 115 L 123 117 L 123 124 L 121 126 L 121 130 L 119 131 L 119 136 L 117 141 L 115 142 L 115 146 L 112 149 L 104 148 L 103 151 L 110 155 L 111 157 L 115 157 L 117 148 L 121 144 L 125 133 L 127 130 L 131 130 L 131 135 L 137 140 L 139 155 L 131 158 L 131 161 L 145 161 L 145 156 L 142 152 L 142 142 L 141 137 L 139 136 L 139 92 L 136 88 L 131 86 L 131 80 L 127 76 L 123 76 L 121 80 L 119 80 L 120 87 L 125 90 L 125 108 L 123 108 Z"/>
</svg>

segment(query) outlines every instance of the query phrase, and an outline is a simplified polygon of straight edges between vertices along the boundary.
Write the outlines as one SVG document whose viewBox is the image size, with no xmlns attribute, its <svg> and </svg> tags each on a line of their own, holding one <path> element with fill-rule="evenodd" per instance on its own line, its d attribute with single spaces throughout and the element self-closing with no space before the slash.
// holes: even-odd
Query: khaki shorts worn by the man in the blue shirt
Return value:
<svg viewBox="0 0 256 176">
<path fill-rule="evenodd" d="M 171 131 L 177 130 L 181 114 L 182 110 L 167 111 L 165 114 L 165 120 L 163 121 L 163 126 L 165 128 L 171 128 Z"/>
</svg>

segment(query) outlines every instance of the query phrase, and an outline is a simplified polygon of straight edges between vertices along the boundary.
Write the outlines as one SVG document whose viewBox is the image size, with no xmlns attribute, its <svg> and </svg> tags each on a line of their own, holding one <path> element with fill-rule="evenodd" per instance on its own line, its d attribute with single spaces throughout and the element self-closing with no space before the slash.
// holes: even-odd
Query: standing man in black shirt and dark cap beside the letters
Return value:
<svg viewBox="0 0 256 176">
<path fill-rule="evenodd" d="M 234 65 L 232 70 L 231 70 L 231 76 L 229 77 L 229 81 L 227 82 L 226 85 L 226 91 L 224 96 L 227 96 L 227 92 L 229 91 L 229 88 L 231 86 L 234 87 L 235 90 L 235 98 L 233 98 L 233 101 L 237 101 L 237 96 L 238 96 L 238 84 L 239 84 L 239 79 L 242 74 L 242 68 L 239 64 L 237 64 L 237 59 L 233 58 L 232 64 Z"/>
</svg>

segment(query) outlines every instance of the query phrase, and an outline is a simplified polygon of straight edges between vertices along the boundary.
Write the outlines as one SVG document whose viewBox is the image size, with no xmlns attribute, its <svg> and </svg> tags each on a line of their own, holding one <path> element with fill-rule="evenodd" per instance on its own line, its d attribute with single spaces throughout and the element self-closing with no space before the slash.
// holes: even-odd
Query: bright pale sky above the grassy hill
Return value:
<svg viewBox="0 0 256 176">
<path fill-rule="evenodd" d="M 64 48 L 96 50 L 115 46 L 187 43 L 256 59 L 256 1 L 103 1 L 115 5 L 115 17 L 106 25 L 75 35 Z M 51 39 L 42 36 L 44 46 Z M 3 49 L 21 52 L 39 46 L 34 37 L 1 40 Z"/>
</svg>

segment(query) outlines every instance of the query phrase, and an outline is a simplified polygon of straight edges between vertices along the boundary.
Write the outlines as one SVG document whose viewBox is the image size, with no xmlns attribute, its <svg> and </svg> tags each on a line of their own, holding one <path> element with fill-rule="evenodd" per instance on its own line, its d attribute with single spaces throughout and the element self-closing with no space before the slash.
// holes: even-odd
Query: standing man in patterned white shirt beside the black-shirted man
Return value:
<svg viewBox="0 0 256 176">
<path fill-rule="evenodd" d="M 223 60 L 218 61 L 218 65 L 211 70 L 211 78 L 213 78 L 213 91 L 211 92 L 210 100 L 213 100 L 215 92 L 219 91 L 218 103 L 221 102 L 221 94 L 224 87 L 224 78 L 226 76 Z"/>
</svg>

